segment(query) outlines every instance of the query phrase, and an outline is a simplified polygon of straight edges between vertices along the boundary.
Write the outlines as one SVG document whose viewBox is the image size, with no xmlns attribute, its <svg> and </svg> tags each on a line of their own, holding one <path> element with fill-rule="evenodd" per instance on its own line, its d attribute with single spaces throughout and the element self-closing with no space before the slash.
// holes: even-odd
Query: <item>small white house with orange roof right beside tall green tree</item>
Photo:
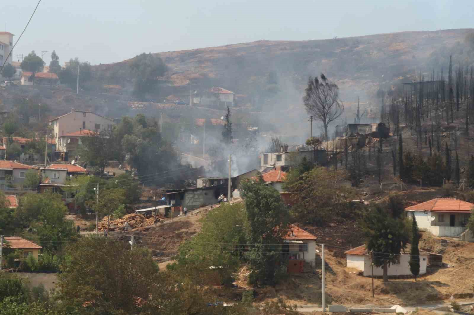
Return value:
<svg viewBox="0 0 474 315">
<path fill-rule="evenodd" d="M 283 236 L 282 252 L 288 255 L 290 260 L 302 260 L 314 266 L 316 263 L 316 239 L 316 236 L 290 224 L 290 230 Z"/>
</svg>

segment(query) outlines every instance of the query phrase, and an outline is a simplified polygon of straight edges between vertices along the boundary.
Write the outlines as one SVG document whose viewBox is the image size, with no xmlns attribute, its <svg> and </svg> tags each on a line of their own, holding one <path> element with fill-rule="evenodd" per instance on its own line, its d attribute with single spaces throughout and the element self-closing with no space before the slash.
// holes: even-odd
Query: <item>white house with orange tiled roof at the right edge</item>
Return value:
<svg viewBox="0 0 474 315">
<path fill-rule="evenodd" d="M 420 229 L 435 236 L 461 236 L 474 204 L 456 198 L 435 198 L 405 208 L 407 216 L 415 216 Z"/>
</svg>

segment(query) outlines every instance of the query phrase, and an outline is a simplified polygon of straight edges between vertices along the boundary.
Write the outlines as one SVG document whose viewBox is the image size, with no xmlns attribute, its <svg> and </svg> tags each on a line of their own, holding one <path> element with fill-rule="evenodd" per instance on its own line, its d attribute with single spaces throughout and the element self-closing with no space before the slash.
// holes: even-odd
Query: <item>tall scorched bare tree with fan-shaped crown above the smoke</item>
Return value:
<svg viewBox="0 0 474 315">
<path fill-rule="evenodd" d="M 321 79 L 310 77 L 305 89 L 303 104 L 306 112 L 323 123 L 324 140 L 328 140 L 328 125 L 344 112 L 339 102 L 339 87 L 321 73 Z"/>
</svg>

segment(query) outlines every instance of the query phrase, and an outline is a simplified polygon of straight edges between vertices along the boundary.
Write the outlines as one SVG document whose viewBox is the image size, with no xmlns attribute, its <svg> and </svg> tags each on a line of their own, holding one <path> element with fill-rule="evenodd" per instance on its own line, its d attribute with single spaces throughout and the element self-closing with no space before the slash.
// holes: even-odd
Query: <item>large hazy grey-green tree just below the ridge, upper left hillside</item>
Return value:
<svg viewBox="0 0 474 315">
<path fill-rule="evenodd" d="M 163 60 L 157 54 L 142 53 L 130 62 L 130 73 L 133 78 L 133 94 L 144 98 L 153 92 L 158 85 L 158 77 L 166 72 Z"/>
</svg>

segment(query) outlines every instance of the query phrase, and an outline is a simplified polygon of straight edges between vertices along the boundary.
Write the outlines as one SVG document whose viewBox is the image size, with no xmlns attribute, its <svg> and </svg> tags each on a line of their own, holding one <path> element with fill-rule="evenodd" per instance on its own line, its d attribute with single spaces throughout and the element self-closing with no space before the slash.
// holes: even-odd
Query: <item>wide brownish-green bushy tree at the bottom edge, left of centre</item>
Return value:
<svg viewBox="0 0 474 315">
<path fill-rule="evenodd" d="M 108 237 L 84 237 L 67 249 L 58 274 L 61 300 L 68 308 L 88 314 L 139 314 L 137 301 L 166 297 L 165 274 L 158 273 L 150 252 Z M 104 276 L 107 275 L 107 276 Z M 177 283 L 175 283 L 177 285 Z M 161 289 L 160 289 L 161 288 Z M 157 292 L 158 291 L 158 292 Z M 86 306 L 86 307 L 83 307 Z M 157 309 L 156 309 L 157 311 Z M 161 314 L 166 314 L 162 309 Z M 153 313 L 145 313 L 153 314 Z"/>
</svg>

